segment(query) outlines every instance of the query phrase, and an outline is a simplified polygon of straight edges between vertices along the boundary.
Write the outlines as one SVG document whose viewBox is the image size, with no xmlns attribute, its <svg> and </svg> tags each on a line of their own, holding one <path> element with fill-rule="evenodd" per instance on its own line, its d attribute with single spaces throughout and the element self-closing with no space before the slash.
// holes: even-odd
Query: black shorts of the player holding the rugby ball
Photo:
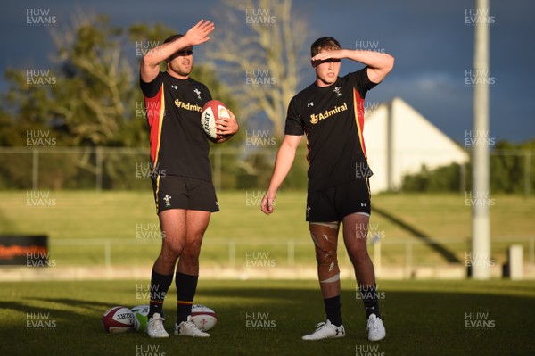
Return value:
<svg viewBox="0 0 535 356">
<path fill-rule="evenodd" d="M 206 180 L 182 176 L 152 178 L 156 213 L 169 209 L 219 211 L 214 185 Z"/>
</svg>

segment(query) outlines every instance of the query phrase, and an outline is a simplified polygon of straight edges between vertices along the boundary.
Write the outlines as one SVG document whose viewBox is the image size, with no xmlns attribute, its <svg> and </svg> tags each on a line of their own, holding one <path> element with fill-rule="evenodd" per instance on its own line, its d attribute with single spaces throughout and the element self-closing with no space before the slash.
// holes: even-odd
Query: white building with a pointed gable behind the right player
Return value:
<svg viewBox="0 0 535 356">
<path fill-rule="evenodd" d="M 372 192 L 399 190 L 402 178 L 450 163 L 465 163 L 470 155 L 400 98 L 366 108 L 364 138 Z M 358 170 L 358 168 L 357 168 Z"/>
</svg>

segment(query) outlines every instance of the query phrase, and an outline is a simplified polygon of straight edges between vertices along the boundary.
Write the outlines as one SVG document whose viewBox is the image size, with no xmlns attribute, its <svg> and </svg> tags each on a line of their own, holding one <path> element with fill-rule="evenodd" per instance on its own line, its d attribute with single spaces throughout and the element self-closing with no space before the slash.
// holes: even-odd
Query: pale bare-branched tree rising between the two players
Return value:
<svg viewBox="0 0 535 356">
<path fill-rule="evenodd" d="M 216 29 L 215 46 L 207 53 L 220 63 L 227 85 L 242 98 L 244 115 L 251 118 L 264 113 L 272 136 L 283 137 L 287 105 L 296 93 L 300 71 L 310 65 L 309 54 L 300 55 L 310 32 L 307 21 L 292 14 L 292 0 L 222 3 L 218 20 L 231 30 Z M 257 78 L 254 72 L 263 74 Z M 266 79 L 268 85 L 259 84 Z"/>
</svg>

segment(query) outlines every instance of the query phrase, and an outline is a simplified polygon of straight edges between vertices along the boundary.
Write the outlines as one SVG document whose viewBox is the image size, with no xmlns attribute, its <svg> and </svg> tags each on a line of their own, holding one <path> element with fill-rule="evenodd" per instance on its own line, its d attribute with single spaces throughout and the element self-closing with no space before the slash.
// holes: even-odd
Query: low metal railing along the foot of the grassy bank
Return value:
<svg viewBox="0 0 535 356">
<path fill-rule="evenodd" d="M 105 267 L 128 264 L 150 265 L 160 249 L 160 239 L 56 239 L 50 244 L 50 258 L 56 265 Z M 417 240 L 376 241 L 369 243 L 369 253 L 374 267 L 401 266 L 410 277 L 410 271 L 419 267 L 440 267 L 449 265 L 430 255 L 430 244 L 440 244 L 457 252 L 454 265 L 468 267 L 470 244 L 466 239 L 448 238 L 432 243 Z M 506 250 L 512 244 L 523 246 L 523 261 L 535 263 L 535 236 L 495 236 L 492 238 L 490 262 L 500 267 L 506 263 Z M 151 247 L 153 251 L 151 250 Z M 82 247 L 82 248 L 80 248 Z M 211 251 L 215 253 L 211 253 Z M 80 251 L 79 256 L 76 251 Z M 217 252 L 216 252 L 217 251 Z M 466 253 L 463 253 L 465 252 Z M 126 253 L 125 253 L 126 252 Z M 74 255 L 73 255 L 74 253 Z M 388 261 L 384 254 L 395 254 L 395 261 Z M 341 249 L 341 266 L 350 266 L 349 256 Z M 284 243 L 274 243 L 269 239 L 248 238 L 246 240 L 206 239 L 202 247 L 203 265 L 220 265 L 232 269 L 315 266 L 314 250 L 309 239 L 291 239 Z"/>
</svg>

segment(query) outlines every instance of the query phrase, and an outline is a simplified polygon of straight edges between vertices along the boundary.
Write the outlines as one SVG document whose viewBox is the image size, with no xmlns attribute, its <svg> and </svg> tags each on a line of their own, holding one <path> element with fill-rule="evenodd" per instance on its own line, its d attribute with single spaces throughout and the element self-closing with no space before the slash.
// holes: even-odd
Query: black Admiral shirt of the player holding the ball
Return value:
<svg viewBox="0 0 535 356">
<path fill-rule="evenodd" d="M 153 172 L 211 181 L 210 144 L 201 111 L 210 91 L 193 79 L 162 71 L 152 82 L 140 79 L 150 129 Z"/>
</svg>

